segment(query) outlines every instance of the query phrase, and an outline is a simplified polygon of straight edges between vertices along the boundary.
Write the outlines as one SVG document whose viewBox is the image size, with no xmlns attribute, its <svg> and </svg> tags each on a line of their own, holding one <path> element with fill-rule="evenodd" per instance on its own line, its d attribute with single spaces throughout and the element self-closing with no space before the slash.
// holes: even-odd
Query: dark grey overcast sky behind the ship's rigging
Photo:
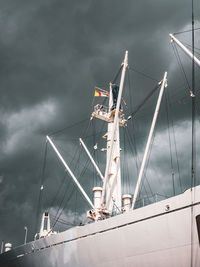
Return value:
<svg viewBox="0 0 200 267">
<path fill-rule="evenodd" d="M 200 3 L 197 0 L 194 3 L 196 27 L 199 27 Z M 0 239 L 14 246 L 20 245 L 26 225 L 29 229 L 28 239 L 32 240 L 45 136 L 90 118 L 94 87 L 108 88 L 120 67 L 125 50 L 129 51 L 129 90 L 133 98 L 130 103 L 128 93 L 124 95 L 127 103 L 133 104 L 133 107 L 129 106 L 129 111 L 134 110 L 137 103 L 156 85 L 154 80 L 131 69 L 157 81 L 162 79 L 164 71 L 169 71 L 168 92 L 172 102 L 171 113 L 174 115 L 176 145 L 181 155 L 182 190 L 187 188 L 191 166 L 191 98 L 168 34 L 188 29 L 191 29 L 191 1 L 186 0 L 0 0 Z M 178 36 L 191 44 L 191 33 Z M 196 45 L 200 45 L 198 40 Z M 181 52 L 180 56 L 191 86 L 191 62 Z M 199 75 L 198 70 L 196 72 Z M 199 90 L 198 84 L 196 89 Z M 139 165 L 155 99 L 135 121 Z M 98 103 L 95 101 L 95 104 Z M 126 111 L 127 115 L 129 111 Z M 152 149 L 149 160 L 152 165 L 149 165 L 146 175 L 149 172 L 153 192 L 158 192 L 159 184 L 160 193 L 172 195 L 172 180 L 167 173 L 170 161 L 163 154 L 169 148 L 164 112 L 161 111 L 160 126 L 154 140 L 155 149 Z M 68 148 L 64 148 L 61 141 L 62 138 L 80 137 L 78 131 L 83 132 L 87 123 L 70 128 L 67 137 L 55 137 L 55 142 L 63 149 L 63 153 L 66 152 L 65 157 L 73 168 L 76 167 L 72 161 L 73 142 L 68 142 Z M 199 120 L 197 136 L 198 127 Z M 88 141 L 88 145 L 91 142 Z M 175 153 L 175 149 L 172 150 Z M 50 153 L 50 156 L 47 153 L 47 165 L 59 165 L 50 148 L 47 152 Z M 134 154 L 128 153 L 126 162 L 134 165 Z M 177 167 L 174 168 L 177 170 Z M 132 170 L 129 179 L 136 173 L 136 170 Z M 58 204 L 53 199 L 64 171 L 58 168 L 57 172 L 56 168 L 51 170 L 49 167 L 48 175 L 53 175 L 55 180 L 44 188 L 45 196 L 41 205 L 47 208 L 53 203 L 53 209 L 56 210 Z M 134 179 L 130 182 L 133 188 Z M 124 182 L 127 184 L 128 180 L 124 178 Z M 178 178 L 175 183 L 176 193 L 180 193 Z M 70 186 L 73 188 L 73 184 Z M 84 186 L 92 191 L 87 183 Z M 123 189 L 129 190 L 129 193 L 132 190 L 127 185 Z M 78 200 L 84 202 L 77 194 Z M 85 208 L 81 211 L 80 206 L 77 210 L 82 218 Z M 69 221 L 73 222 L 74 211 L 69 208 L 67 214 L 70 214 Z"/>
</svg>

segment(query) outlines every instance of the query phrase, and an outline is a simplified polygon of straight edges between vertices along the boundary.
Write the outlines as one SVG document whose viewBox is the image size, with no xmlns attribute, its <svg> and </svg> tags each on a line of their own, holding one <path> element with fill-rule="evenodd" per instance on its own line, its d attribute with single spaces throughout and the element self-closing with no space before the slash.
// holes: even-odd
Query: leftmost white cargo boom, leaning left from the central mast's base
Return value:
<svg viewBox="0 0 200 267">
<path fill-rule="evenodd" d="M 82 186 L 80 185 L 80 183 L 78 182 L 78 180 L 76 179 L 76 177 L 74 176 L 73 172 L 70 170 L 69 166 L 67 165 L 67 163 L 65 162 L 65 160 L 61 156 L 60 152 L 58 151 L 58 149 L 56 148 L 56 146 L 54 145 L 54 143 L 52 142 L 52 140 L 50 139 L 50 137 L 47 135 L 46 138 L 49 141 L 49 143 L 52 146 L 52 148 L 54 149 L 54 151 L 56 152 L 56 154 L 57 154 L 58 158 L 60 159 L 60 161 L 62 162 L 62 164 L 65 166 L 67 172 L 70 174 L 70 176 L 74 180 L 75 184 L 78 186 L 79 190 L 81 191 L 81 193 L 83 194 L 83 196 L 87 200 L 87 202 L 94 209 L 94 205 L 92 204 L 92 201 L 90 200 L 90 198 L 88 197 L 88 195 L 86 194 L 86 192 L 84 191 L 84 189 L 82 188 Z"/>
</svg>

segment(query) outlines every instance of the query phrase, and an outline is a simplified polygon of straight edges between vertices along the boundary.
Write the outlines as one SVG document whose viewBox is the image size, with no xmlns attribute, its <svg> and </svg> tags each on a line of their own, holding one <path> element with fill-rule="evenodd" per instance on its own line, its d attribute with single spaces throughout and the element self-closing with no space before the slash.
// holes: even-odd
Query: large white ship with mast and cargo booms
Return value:
<svg viewBox="0 0 200 267">
<path fill-rule="evenodd" d="M 200 61 L 173 35 L 176 42 L 200 66 Z M 167 87 L 167 72 L 158 83 L 160 89 L 155 112 L 141 163 L 133 197 L 121 195 L 119 128 L 126 127 L 131 117 L 125 118 L 121 99 L 128 52 L 122 62 L 119 86 L 109 84 L 109 107 L 96 105 L 91 119 L 107 123 L 106 169 L 103 175 L 82 139 L 81 146 L 92 162 L 102 186 L 93 188 L 89 198 L 62 154 L 47 136 L 80 193 L 90 206 L 87 217 L 91 223 L 54 232 L 48 212 L 44 212 L 39 233 L 29 243 L 16 248 L 10 244 L 0 254 L 1 267 L 198 267 L 200 266 L 200 186 L 146 206 L 136 207 L 162 95 Z M 193 97 L 193 95 L 191 95 Z M 113 211 L 115 216 L 112 216 Z"/>
</svg>

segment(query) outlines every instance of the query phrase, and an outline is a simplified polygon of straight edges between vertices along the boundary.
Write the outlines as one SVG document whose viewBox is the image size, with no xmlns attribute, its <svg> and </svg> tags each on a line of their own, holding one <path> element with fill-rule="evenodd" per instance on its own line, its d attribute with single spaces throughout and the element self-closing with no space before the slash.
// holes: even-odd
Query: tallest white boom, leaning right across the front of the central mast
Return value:
<svg viewBox="0 0 200 267">
<path fill-rule="evenodd" d="M 117 126 L 117 123 L 118 123 L 118 120 L 119 120 L 119 108 L 120 108 L 120 103 L 121 103 L 121 97 L 122 97 L 122 91 L 123 91 L 124 79 L 125 79 L 125 73 L 126 73 L 127 66 L 128 66 L 128 51 L 126 51 L 125 57 L 124 57 L 124 61 L 123 61 L 123 69 L 122 69 L 122 75 L 121 75 L 120 86 L 119 86 L 119 93 L 118 93 L 118 98 L 117 98 L 117 106 L 116 106 L 116 110 L 115 110 L 113 131 L 111 133 L 111 144 L 110 144 L 111 151 L 110 151 L 110 156 L 109 156 L 108 164 L 106 166 L 106 171 L 105 171 L 105 179 L 104 179 L 104 184 L 103 184 L 101 204 L 103 204 L 103 202 L 104 202 L 105 189 L 106 189 L 106 185 L 107 185 L 107 182 L 108 182 L 108 173 L 109 173 L 110 165 L 111 165 L 116 126 Z"/>
</svg>

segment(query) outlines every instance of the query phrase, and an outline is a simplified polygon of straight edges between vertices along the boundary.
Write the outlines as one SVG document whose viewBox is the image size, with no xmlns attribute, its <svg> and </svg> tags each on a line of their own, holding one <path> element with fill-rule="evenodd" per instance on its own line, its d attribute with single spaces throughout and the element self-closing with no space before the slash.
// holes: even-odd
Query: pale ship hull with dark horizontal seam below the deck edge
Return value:
<svg viewBox="0 0 200 267">
<path fill-rule="evenodd" d="M 198 215 L 200 186 L 12 249 L 0 267 L 199 267 Z"/>
</svg>

